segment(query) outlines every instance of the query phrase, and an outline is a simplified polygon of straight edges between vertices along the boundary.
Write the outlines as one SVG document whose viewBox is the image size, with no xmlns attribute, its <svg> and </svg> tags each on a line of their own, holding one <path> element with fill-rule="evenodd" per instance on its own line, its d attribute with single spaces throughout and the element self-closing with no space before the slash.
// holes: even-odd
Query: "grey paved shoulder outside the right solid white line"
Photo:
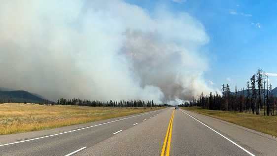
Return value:
<svg viewBox="0 0 277 156">
<path fill-rule="evenodd" d="M 277 155 L 277 138 L 227 121 L 183 110 L 192 117 L 214 128 L 254 155 Z M 184 114 L 185 115 L 185 114 Z M 187 115 L 185 115 L 187 116 Z"/>
</svg>

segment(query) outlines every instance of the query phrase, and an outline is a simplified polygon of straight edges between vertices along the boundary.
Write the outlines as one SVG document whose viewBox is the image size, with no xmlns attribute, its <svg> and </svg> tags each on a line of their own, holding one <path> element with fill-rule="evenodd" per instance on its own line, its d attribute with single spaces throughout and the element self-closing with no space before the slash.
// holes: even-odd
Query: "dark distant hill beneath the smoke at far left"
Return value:
<svg viewBox="0 0 277 156">
<path fill-rule="evenodd" d="M 2 102 L 18 102 L 18 103 L 46 103 L 40 95 L 32 94 L 24 90 L 13 90 L 13 91 L 1 91 L 0 90 L 0 99 Z M 53 103 L 48 101 L 48 103 Z"/>
</svg>

